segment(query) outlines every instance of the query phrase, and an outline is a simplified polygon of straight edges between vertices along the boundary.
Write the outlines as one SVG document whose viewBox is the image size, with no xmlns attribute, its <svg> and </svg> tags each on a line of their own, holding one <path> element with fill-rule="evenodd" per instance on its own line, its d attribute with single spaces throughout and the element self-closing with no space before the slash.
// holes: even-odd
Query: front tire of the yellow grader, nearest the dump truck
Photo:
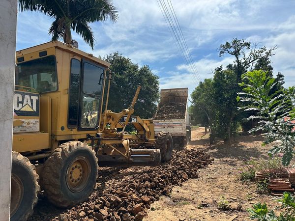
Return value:
<svg viewBox="0 0 295 221">
<path fill-rule="evenodd" d="M 167 162 L 171 159 L 173 150 L 173 139 L 168 132 L 160 132 L 156 138 L 156 148 L 160 149 L 161 162 Z"/>
</svg>

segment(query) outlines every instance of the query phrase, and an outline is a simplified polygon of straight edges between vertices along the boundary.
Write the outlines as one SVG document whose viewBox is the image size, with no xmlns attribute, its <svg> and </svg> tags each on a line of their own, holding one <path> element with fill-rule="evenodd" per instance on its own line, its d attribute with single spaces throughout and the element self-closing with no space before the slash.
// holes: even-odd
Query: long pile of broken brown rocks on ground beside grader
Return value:
<svg viewBox="0 0 295 221">
<path fill-rule="evenodd" d="M 211 164 L 207 153 L 195 149 L 174 150 L 172 156 L 156 167 L 100 167 L 87 202 L 61 210 L 41 196 L 29 221 L 141 221 L 153 201 L 170 195 L 173 186 L 197 178 L 198 169 Z"/>
</svg>

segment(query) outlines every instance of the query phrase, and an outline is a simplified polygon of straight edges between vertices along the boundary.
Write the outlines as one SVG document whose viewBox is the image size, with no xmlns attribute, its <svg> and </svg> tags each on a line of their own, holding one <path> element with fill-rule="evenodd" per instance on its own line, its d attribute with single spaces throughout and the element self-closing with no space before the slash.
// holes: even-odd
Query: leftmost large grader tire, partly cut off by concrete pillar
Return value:
<svg viewBox="0 0 295 221">
<path fill-rule="evenodd" d="M 10 221 L 26 221 L 38 201 L 39 176 L 27 157 L 12 152 Z"/>
</svg>

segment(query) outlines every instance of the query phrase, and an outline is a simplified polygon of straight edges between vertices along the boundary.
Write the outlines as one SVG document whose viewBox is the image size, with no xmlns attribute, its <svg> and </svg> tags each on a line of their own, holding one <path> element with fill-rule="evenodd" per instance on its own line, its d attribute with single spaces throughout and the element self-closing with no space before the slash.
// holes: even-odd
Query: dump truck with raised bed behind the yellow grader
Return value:
<svg viewBox="0 0 295 221">
<path fill-rule="evenodd" d="M 160 102 L 155 114 L 155 132 L 167 131 L 174 144 L 186 145 L 191 140 L 188 114 L 188 88 L 161 89 Z"/>
</svg>

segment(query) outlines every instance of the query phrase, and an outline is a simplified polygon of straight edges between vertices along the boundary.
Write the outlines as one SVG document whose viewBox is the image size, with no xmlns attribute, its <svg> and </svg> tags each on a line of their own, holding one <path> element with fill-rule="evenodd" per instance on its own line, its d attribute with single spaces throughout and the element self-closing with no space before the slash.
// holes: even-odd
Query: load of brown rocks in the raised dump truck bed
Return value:
<svg viewBox="0 0 295 221">
<path fill-rule="evenodd" d="M 156 120 L 184 119 L 185 103 L 159 104 Z"/>
</svg>

